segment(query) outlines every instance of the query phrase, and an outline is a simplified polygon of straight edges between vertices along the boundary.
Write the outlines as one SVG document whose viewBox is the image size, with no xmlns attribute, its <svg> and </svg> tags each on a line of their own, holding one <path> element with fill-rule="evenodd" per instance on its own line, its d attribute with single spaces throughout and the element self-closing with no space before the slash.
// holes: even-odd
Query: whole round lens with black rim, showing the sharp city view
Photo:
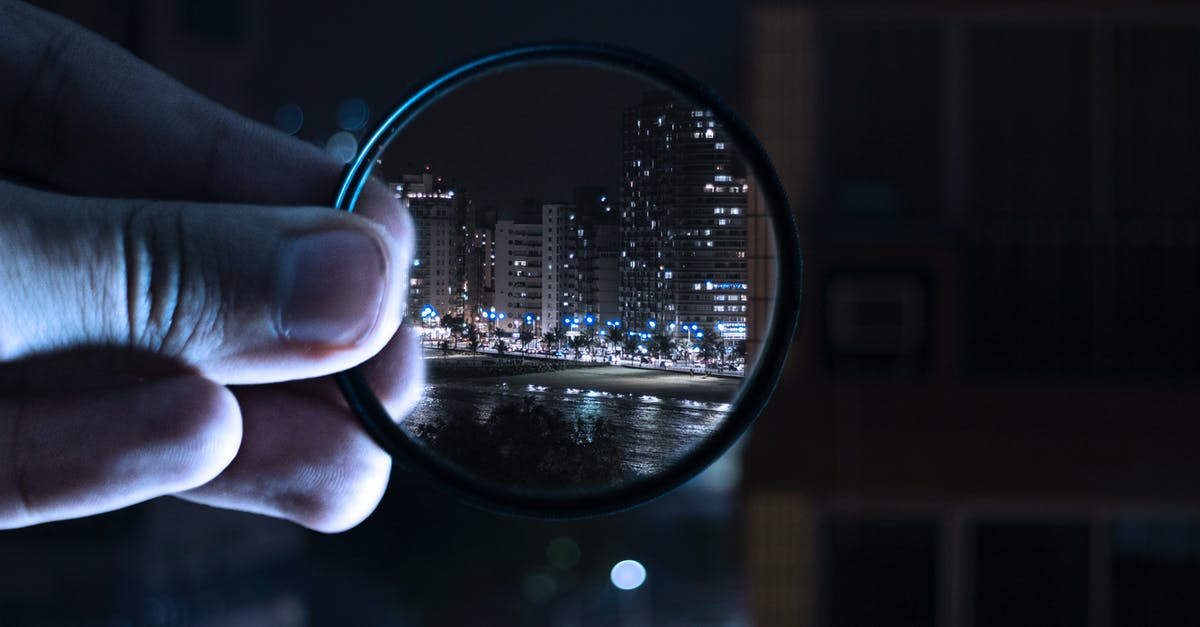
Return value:
<svg viewBox="0 0 1200 627">
<path fill-rule="evenodd" d="M 476 504 L 575 518 L 659 496 L 750 426 L 782 366 L 800 252 L 746 125 L 667 64 L 551 43 L 414 90 L 347 167 L 416 226 L 408 323 L 427 384 L 390 416 L 336 376 L 397 462 Z"/>
</svg>

